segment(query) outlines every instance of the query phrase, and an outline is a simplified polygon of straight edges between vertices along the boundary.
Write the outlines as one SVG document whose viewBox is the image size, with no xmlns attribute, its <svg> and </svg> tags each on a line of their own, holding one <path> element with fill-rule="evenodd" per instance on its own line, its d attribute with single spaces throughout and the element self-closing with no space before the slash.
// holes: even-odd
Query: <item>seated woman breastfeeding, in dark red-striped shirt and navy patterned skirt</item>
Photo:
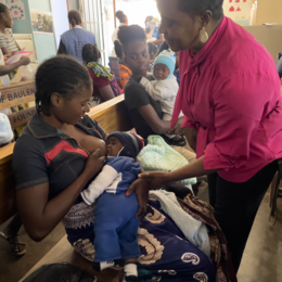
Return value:
<svg viewBox="0 0 282 282">
<path fill-rule="evenodd" d="M 93 260 L 95 205 L 84 203 L 80 192 L 104 165 L 107 133 L 86 115 L 92 81 L 77 61 L 56 56 L 39 67 L 36 88 L 38 114 L 13 154 L 18 213 L 26 232 L 37 242 L 63 220 L 69 243 Z M 136 180 L 130 188 L 139 202 L 137 217 L 145 216 L 138 233 L 140 268 L 158 279 L 155 281 L 214 282 L 209 258 L 184 240 L 159 203 L 140 201 L 148 197 L 148 181 Z"/>
</svg>

